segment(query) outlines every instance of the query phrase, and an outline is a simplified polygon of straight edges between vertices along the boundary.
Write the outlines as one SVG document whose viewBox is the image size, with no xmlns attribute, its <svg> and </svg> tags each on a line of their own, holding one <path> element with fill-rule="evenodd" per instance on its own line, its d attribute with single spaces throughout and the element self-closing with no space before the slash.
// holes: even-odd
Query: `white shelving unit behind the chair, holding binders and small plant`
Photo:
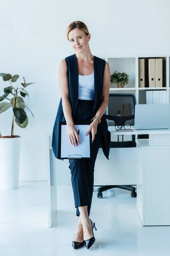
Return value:
<svg viewBox="0 0 170 256">
<path fill-rule="evenodd" d="M 170 55 L 149 55 L 149 56 L 99 56 L 108 61 L 111 74 L 115 70 L 126 72 L 129 75 L 129 84 L 124 88 L 117 88 L 116 84 L 110 83 L 110 93 L 134 93 L 136 104 L 146 104 L 146 90 L 166 90 L 167 103 L 170 103 Z M 163 87 L 139 87 L 139 58 L 163 58 Z M 147 84 L 147 86 L 149 86 Z"/>
</svg>

